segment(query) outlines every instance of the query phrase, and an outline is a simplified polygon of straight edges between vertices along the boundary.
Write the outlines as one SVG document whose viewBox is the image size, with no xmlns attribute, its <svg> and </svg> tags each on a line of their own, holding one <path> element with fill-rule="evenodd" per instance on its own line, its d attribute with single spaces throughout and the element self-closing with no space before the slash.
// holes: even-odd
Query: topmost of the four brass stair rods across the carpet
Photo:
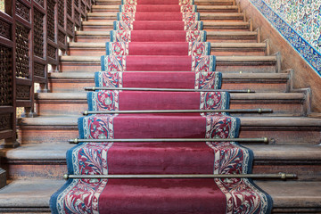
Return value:
<svg viewBox="0 0 321 214">
<path fill-rule="evenodd" d="M 152 88 L 152 87 L 84 87 L 86 91 L 95 90 L 121 90 L 121 91 L 164 91 L 164 92 L 229 92 L 229 93 L 255 93 L 251 89 L 187 89 L 187 88 Z"/>
</svg>

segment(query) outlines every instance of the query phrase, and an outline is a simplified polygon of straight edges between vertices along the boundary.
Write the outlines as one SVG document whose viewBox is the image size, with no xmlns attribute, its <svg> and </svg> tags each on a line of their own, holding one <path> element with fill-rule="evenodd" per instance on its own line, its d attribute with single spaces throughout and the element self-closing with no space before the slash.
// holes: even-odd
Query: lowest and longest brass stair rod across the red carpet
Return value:
<svg viewBox="0 0 321 214">
<path fill-rule="evenodd" d="M 181 175 L 63 175 L 64 179 L 161 179 L 161 178 L 269 178 L 286 179 L 296 178 L 295 174 L 181 174 Z"/>
</svg>

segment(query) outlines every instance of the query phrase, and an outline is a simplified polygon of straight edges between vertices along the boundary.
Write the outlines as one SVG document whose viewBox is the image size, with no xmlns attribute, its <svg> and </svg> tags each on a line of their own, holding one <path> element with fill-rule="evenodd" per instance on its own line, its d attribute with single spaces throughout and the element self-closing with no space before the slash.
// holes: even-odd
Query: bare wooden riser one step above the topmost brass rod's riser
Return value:
<svg viewBox="0 0 321 214">
<path fill-rule="evenodd" d="M 240 62 L 241 63 L 241 62 Z M 101 66 L 98 63 L 73 63 L 73 62 L 61 62 L 60 70 L 62 72 L 66 71 L 88 71 L 95 72 L 101 70 Z M 235 72 L 235 71 L 243 71 L 243 72 L 254 72 L 254 73 L 274 73 L 276 72 L 276 64 L 269 63 L 254 63 L 253 65 L 249 64 L 231 64 L 221 62 L 217 62 L 216 70 L 226 71 L 226 72 Z"/>
</svg>

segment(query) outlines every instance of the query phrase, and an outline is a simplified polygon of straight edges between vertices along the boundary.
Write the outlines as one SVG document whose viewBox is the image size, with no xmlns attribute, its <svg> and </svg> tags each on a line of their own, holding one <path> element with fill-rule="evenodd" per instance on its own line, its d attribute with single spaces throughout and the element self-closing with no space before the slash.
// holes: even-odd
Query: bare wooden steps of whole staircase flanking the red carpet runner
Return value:
<svg viewBox="0 0 321 214">
<path fill-rule="evenodd" d="M 94 86 L 112 21 L 120 0 L 97 0 L 82 22 L 60 71 L 50 74 L 51 93 L 36 95 L 36 118 L 19 119 L 21 147 L 1 151 L 11 184 L 0 190 L 0 212 L 50 212 L 49 197 L 66 173 L 67 143 L 78 136 L 77 119 L 86 110 L 84 86 Z M 307 117 L 309 90 L 292 88 L 292 70 L 281 70 L 281 55 L 269 53 L 235 0 L 195 0 L 224 89 L 252 89 L 232 94 L 231 109 L 271 108 L 270 114 L 235 114 L 240 137 L 267 136 L 269 144 L 244 144 L 254 152 L 253 173 L 298 174 L 289 181 L 258 180 L 271 194 L 275 213 L 321 212 L 321 119 Z M 283 56 L 287 57 L 287 56 Z"/>
</svg>

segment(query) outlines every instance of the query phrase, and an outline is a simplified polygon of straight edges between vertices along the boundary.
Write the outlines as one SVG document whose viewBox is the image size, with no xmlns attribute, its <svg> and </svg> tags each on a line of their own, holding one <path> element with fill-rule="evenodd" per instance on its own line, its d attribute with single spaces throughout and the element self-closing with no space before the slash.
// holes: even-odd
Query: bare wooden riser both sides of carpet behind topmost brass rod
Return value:
<svg viewBox="0 0 321 214">
<path fill-rule="evenodd" d="M 94 79 L 66 79 L 66 80 L 49 80 L 49 89 L 53 93 L 59 92 L 81 92 L 84 91 L 85 86 L 95 86 Z M 279 82 L 264 82 L 252 81 L 252 82 L 228 82 L 223 79 L 223 89 L 235 89 L 235 90 L 246 90 L 251 89 L 255 92 L 287 92 L 286 81 L 280 80 Z"/>
</svg>

